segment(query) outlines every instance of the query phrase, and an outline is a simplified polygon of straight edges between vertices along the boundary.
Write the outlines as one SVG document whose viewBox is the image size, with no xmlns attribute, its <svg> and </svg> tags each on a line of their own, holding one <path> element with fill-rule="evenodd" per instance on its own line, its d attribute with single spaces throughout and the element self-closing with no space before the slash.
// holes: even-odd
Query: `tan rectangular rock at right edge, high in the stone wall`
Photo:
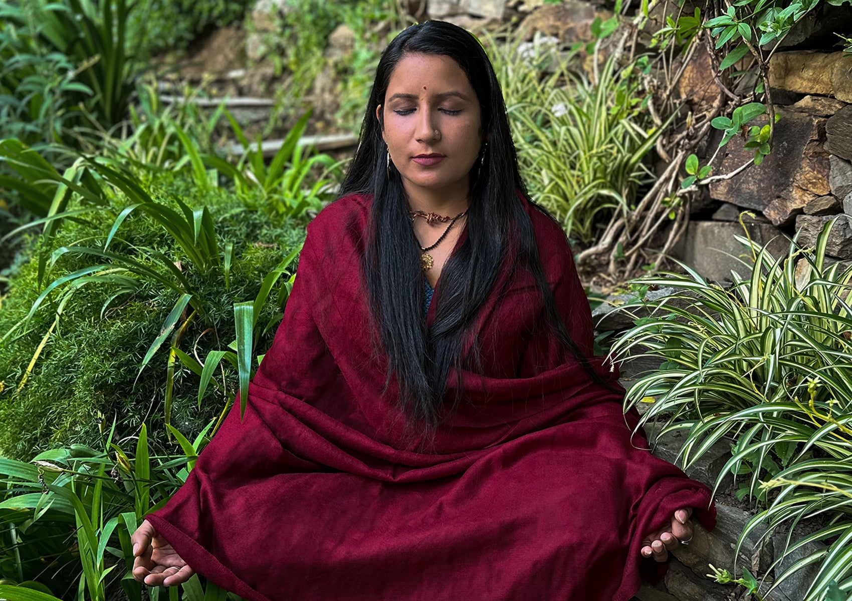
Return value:
<svg viewBox="0 0 852 601">
<path fill-rule="evenodd" d="M 844 56 L 843 52 L 776 52 L 769 59 L 769 85 L 852 102 L 850 70 L 852 56 Z"/>
</svg>

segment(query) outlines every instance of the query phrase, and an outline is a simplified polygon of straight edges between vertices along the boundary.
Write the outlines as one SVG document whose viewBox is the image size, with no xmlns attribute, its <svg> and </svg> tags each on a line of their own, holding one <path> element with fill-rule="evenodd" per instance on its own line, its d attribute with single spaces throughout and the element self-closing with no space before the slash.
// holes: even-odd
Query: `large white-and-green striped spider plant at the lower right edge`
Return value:
<svg viewBox="0 0 852 601">
<path fill-rule="evenodd" d="M 820 232 L 815 249 L 793 244 L 778 259 L 738 238 L 751 273 L 732 272 L 730 289 L 688 267 L 686 274 L 640 278 L 676 295 L 645 303 L 651 315 L 637 319 L 613 346 L 616 357 L 662 362 L 636 381 L 625 409 L 645 402 L 643 424 L 659 420 L 661 432 L 685 432 L 683 466 L 728 440 L 733 453 L 717 487 L 733 471 L 745 472 L 752 497 L 769 490 L 739 544 L 759 524 L 768 525 L 763 538 L 789 525 L 789 547 L 779 550 L 775 565 L 794 551 L 804 557 L 773 586 L 819 564 L 806 601 L 824 598 L 832 580 L 852 575 L 852 267 L 826 262 L 832 225 Z M 828 525 L 791 545 L 795 525 L 817 515 Z M 815 541 L 826 547 L 805 547 Z"/>
</svg>

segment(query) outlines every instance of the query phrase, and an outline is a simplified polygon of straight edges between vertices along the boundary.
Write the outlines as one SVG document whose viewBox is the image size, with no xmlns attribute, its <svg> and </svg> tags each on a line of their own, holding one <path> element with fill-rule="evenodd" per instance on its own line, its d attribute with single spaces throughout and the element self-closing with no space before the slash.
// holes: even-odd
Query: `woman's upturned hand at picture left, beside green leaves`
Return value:
<svg viewBox="0 0 852 601">
<path fill-rule="evenodd" d="M 133 577 L 149 587 L 174 587 L 195 574 L 169 541 L 146 519 L 130 536 L 133 545 Z"/>
</svg>

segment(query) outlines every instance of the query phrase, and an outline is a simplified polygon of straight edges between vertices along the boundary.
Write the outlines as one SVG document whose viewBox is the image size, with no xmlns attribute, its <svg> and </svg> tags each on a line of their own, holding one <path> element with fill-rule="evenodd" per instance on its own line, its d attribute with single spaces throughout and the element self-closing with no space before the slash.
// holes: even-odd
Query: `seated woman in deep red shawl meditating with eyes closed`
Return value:
<svg viewBox="0 0 852 601">
<path fill-rule="evenodd" d="M 531 202 L 475 37 L 440 21 L 377 67 L 342 197 L 285 317 L 133 573 L 277 599 L 628 599 L 712 526 L 592 355 L 564 232 Z"/>
</svg>

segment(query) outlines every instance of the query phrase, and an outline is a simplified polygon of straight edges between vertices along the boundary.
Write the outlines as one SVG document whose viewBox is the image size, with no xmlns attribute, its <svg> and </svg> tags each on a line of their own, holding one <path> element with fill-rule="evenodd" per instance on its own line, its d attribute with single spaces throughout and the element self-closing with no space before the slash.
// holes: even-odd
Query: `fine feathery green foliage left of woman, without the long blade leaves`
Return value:
<svg viewBox="0 0 852 601">
<path fill-rule="evenodd" d="M 191 182 L 170 175 L 156 180 L 152 193 L 163 203 L 173 203 L 177 196 L 193 208 L 206 204 L 222 248 L 227 242 L 234 245 L 230 289 L 226 289 L 222 269 L 201 272 L 188 262 L 170 235 L 145 215 L 131 215 L 125 220 L 111 244 L 113 251 L 131 255 L 148 266 L 158 267 L 158 263 L 147 249 L 181 262 L 193 290 L 208 307 L 209 317 L 194 319 L 180 346 L 203 359 L 211 349 L 225 348 L 233 341 L 233 303 L 254 300 L 266 274 L 304 238 L 304 224 L 272 222 L 260 212 L 244 210 L 232 193 L 203 195 Z M 122 208 L 121 202 L 118 198 L 113 208 L 116 213 Z M 95 246 L 107 237 L 113 219 L 114 214 L 102 211 L 87 223 L 66 222 L 50 248 L 75 243 Z M 38 252 L 37 241 L 32 240 L 29 247 L 33 255 Z M 45 283 L 94 263 L 84 255 L 64 255 Z M 59 295 L 54 294 L 32 316 L 26 330 L 19 329 L 0 344 L 0 381 L 4 383 L 0 392 L 0 454 L 29 460 L 43 449 L 60 445 L 99 447 L 98 412 L 106 419 L 107 429 L 116 418 L 116 438 L 135 434 L 143 421 L 153 438 L 162 437 L 168 344 L 154 355 L 138 380 L 136 376 L 178 293 L 156 282 L 140 280 L 140 284 L 135 292 L 114 299 L 103 317 L 104 303 L 116 291 L 112 285 L 95 283 L 78 289 L 64 307 L 20 392 L 16 388 L 27 365 L 54 323 Z M 25 318 L 38 294 L 37 260 L 32 260 L 10 278 L 9 295 L 0 305 L 0 337 Z M 278 311 L 279 307 L 268 303 L 262 323 Z M 268 332 L 257 341 L 258 352 L 268 347 L 273 334 Z M 236 386 L 236 373 L 228 368 L 227 387 L 233 391 Z M 187 436 L 199 432 L 225 403 L 222 392 L 210 386 L 199 409 L 197 391 L 198 377 L 179 370 L 171 422 Z"/>
</svg>

